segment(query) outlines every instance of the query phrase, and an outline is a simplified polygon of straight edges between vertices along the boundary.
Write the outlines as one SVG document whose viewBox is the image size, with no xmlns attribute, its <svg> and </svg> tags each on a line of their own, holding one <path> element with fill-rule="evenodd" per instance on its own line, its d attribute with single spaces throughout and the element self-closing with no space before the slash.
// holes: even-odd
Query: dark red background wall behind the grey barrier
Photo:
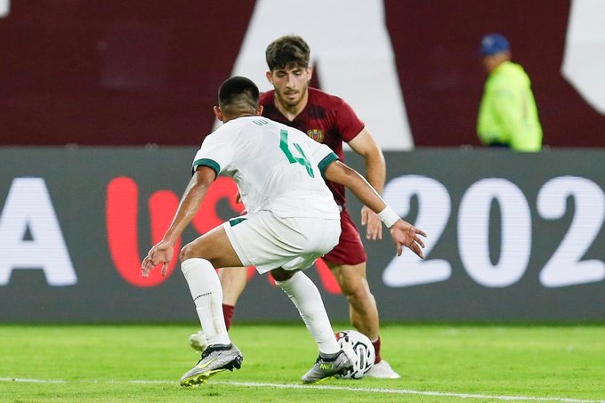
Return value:
<svg viewBox="0 0 605 403">
<path fill-rule="evenodd" d="M 552 147 L 605 146 L 605 117 L 561 76 L 569 1 L 386 0 L 415 145 L 478 144 L 484 73 L 499 31 L 533 79 Z M 20 0 L 0 19 L 0 145 L 198 144 L 254 1 Z M 355 63 L 355 60 L 351 60 Z"/>
</svg>

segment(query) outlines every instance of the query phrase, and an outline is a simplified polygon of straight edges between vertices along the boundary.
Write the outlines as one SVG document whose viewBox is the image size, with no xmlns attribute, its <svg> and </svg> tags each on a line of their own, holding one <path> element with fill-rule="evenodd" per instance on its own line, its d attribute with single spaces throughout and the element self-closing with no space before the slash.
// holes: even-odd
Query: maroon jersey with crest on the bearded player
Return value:
<svg viewBox="0 0 605 403">
<path fill-rule="evenodd" d="M 343 141 L 351 141 L 365 126 L 349 104 L 316 88 L 309 88 L 309 101 L 293 121 L 275 107 L 274 97 L 273 90 L 261 94 L 263 117 L 307 133 L 311 139 L 326 144 L 342 161 Z M 344 186 L 330 181 L 327 181 L 327 186 L 332 190 L 336 203 L 345 206 Z"/>
</svg>

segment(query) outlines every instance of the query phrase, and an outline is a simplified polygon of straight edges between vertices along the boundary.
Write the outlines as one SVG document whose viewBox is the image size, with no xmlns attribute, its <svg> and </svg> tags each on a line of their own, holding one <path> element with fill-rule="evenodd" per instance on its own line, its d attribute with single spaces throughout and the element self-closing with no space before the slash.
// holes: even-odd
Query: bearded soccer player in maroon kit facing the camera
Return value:
<svg viewBox="0 0 605 403">
<path fill-rule="evenodd" d="M 282 36 L 266 51 L 270 71 L 267 79 L 274 90 L 263 93 L 262 115 L 295 127 L 313 140 L 325 143 L 343 159 L 343 141 L 366 161 L 367 181 L 378 191 L 384 187 L 386 167 L 382 150 L 376 144 L 351 107 L 342 99 L 309 87 L 312 68 L 310 48 L 300 36 Z M 377 378 L 399 378 L 380 355 L 379 319 L 374 295 L 366 278 L 367 255 L 359 231 L 346 209 L 344 187 L 327 182 L 341 207 L 342 234 L 339 244 L 324 256 L 343 294 L 349 300 L 351 324 L 366 334 L 375 346 L 375 365 L 367 374 Z M 382 238 L 382 222 L 367 206 L 361 209 L 361 222 L 367 226 L 367 238 Z M 220 272 L 223 289 L 223 314 L 230 326 L 239 295 L 246 287 L 246 270 L 223 268 Z M 201 333 L 192 334 L 190 344 L 204 348 Z"/>
</svg>

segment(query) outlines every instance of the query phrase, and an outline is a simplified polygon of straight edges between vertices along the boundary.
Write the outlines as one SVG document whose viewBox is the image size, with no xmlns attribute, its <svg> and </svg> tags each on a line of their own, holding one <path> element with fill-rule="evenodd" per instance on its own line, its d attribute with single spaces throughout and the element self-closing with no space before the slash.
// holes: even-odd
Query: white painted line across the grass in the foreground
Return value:
<svg viewBox="0 0 605 403">
<path fill-rule="evenodd" d="M 161 383 L 161 384 L 176 384 L 176 381 L 161 381 L 161 380 L 131 380 L 131 381 L 98 381 L 98 380 L 81 380 L 81 381 L 66 381 L 62 379 L 28 379 L 28 378 L 11 378 L 0 377 L 0 382 L 15 382 L 15 383 Z M 419 396 L 438 396 L 447 398 L 461 399 L 494 399 L 494 400 L 525 400 L 525 401 L 561 401 L 566 403 L 605 403 L 605 400 L 592 399 L 573 399 L 573 398 L 540 398 L 533 396 L 506 396 L 506 395 L 486 395 L 477 393 L 456 393 L 450 391 L 414 391 L 410 389 L 383 389 L 383 388 L 353 388 L 348 386 L 334 385 L 303 385 L 299 383 L 255 383 L 255 382 L 212 382 L 212 384 L 227 385 L 227 386 L 243 386 L 243 387 L 267 387 L 280 389 L 319 389 L 324 391 L 355 391 L 364 393 L 385 393 L 398 395 L 419 395 Z"/>
</svg>

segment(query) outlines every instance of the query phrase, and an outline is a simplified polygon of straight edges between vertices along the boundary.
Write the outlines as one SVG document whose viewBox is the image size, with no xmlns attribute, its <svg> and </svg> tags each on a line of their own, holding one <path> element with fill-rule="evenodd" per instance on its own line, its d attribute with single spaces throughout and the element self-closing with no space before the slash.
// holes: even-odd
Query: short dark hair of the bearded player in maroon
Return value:
<svg viewBox="0 0 605 403">
<path fill-rule="evenodd" d="M 278 37 L 267 46 L 265 58 L 270 71 L 286 67 L 309 66 L 311 49 L 304 39 L 296 35 Z"/>
</svg>

